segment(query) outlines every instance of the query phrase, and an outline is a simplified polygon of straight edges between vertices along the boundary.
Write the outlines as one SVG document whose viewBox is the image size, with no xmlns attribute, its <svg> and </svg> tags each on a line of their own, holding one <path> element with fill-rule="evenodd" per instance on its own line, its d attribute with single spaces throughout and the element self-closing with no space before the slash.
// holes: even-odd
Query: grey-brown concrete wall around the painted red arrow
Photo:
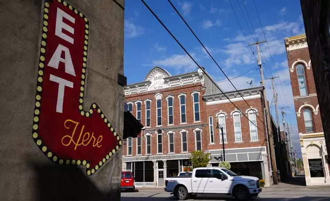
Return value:
<svg viewBox="0 0 330 201">
<path fill-rule="evenodd" d="M 124 0 L 117 2 L 123 7 Z M 123 74 L 124 11 L 115 1 L 68 3 L 90 21 L 84 109 L 97 103 L 121 136 L 124 95 L 117 74 Z M 119 200 L 120 183 L 111 182 L 121 172 L 121 150 L 87 176 L 84 169 L 52 163 L 33 142 L 42 4 L 0 3 L 0 200 Z"/>
</svg>

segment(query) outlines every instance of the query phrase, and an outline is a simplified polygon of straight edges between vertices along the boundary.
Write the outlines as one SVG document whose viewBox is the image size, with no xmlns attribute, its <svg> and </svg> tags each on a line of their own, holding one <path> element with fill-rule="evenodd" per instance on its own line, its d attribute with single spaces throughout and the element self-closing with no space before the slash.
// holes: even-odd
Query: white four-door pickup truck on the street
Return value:
<svg viewBox="0 0 330 201">
<path fill-rule="evenodd" d="M 168 177 L 165 184 L 164 190 L 179 200 L 197 195 L 232 195 L 238 200 L 247 200 L 262 191 L 258 177 L 238 176 L 219 167 L 195 168 L 191 176 Z"/>
</svg>

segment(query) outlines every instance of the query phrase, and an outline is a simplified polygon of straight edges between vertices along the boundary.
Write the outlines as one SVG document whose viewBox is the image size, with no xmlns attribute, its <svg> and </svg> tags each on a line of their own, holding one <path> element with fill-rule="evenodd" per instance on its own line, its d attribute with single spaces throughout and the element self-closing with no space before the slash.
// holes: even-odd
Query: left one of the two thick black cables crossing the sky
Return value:
<svg viewBox="0 0 330 201">
<path fill-rule="evenodd" d="M 169 1 L 169 0 L 168 0 Z M 157 19 L 157 21 L 164 27 L 164 29 L 167 30 L 167 32 L 173 37 L 173 39 L 176 41 L 176 43 L 183 49 L 183 51 L 193 60 L 193 62 L 198 66 L 198 68 L 203 71 L 203 73 L 205 75 L 207 75 L 211 82 L 221 91 L 221 93 L 229 100 L 230 103 L 232 103 L 236 108 L 238 108 L 233 102 L 232 100 L 230 100 L 230 98 L 222 91 L 222 89 L 215 83 L 215 81 L 212 79 L 212 77 L 210 77 L 210 75 L 205 72 L 205 70 L 196 62 L 196 60 L 191 56 L 191 54 L 181 45 L 181 43 L 176 39 L 176 37 L 172 34 L 172 32 L 162 23 L 162 21 L 159 19 L 159 17 L 154 13 L 154 11 L 148 6 L 148 4 L 144 1 L 141 0 L 141 2 L 148 8 L 148 10 L 154 15 L 154 17 Z M 170 2 L 171 3 L 171 2 Z M 178 11 L 177 11 L 178 12 Z M 182 17 L 182 16 L 181 16 Z M 185 22 L 185 21 L 184 21 Z M 199 40 L 199 39 L 198 39 Z M 201 42 L 200 42 L 201 43 Z M 205 48 L 205 50 L 207 50 Z M 208 50 L 207 50 L 208 51 Z M 210 54 L 210 56 L 212 57 L 212 55 Z M 213 58 L 213 57 L 212 57 Z M 220 70 L 222 71 L 222 69 L 220 68 Z M 224 74 L 225 75 L 225 74 Z M 225 75 L 226 76 L 226 75 Z M 228 78 L 228 77 L 227 77 Z M 230 81 L 231 82 L 231 81 Z M 234 86 L 235 87 L 235 86 Z M 244 99 L 244 98 L 243 98 Z M 242 111 L 241 114 L 247 118 L 249 120 L 249 122 L 251 122 L 254 126 L 257 127 L 257 125 L 255 123 L 253 123 L 249 117 L 247 117 Z M 257 115 L 256 115 L 257 116 Z M 258 116 L 257 116 L 258 117 Z M 260 118 L 259 118 L 260 119 Z M 262 122 L 262 121 L 261 121 Z M 263 123 L 263 125 L 265 126 L 265 124 Z M 266 133 L 265 131 L 263 131 L 262 129 L 260 129 L 259 127 L 257 127 L 259 130 L 261 130 L 262 132 Z M 270 129 L 268 129 L 271 133 L 272 131 Z"/>
</svg>

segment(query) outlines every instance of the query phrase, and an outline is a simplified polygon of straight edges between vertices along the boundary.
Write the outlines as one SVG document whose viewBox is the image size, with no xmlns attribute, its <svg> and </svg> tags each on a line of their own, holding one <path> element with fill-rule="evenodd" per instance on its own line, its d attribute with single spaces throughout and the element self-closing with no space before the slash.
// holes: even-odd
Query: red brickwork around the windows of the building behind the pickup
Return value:
<svg viewBox="0 0 330 201">
<path fill-rule="evenodd" d="M 194 108 L 193 108 L 193 92 L 199 92 L 199 110 L 200 110 L 200 122 L 194 123 Z M 180 154 L 182 153 L 182 143 L 181 143 L 181 134 L 180 131 L 183 128 L 177 128 L 180 126 L 186 126 L 189 128 L 184 128 L 184 130 L 188 131 L 188 152 L 192 152 L 196 150 L 196 140 L 195 140 L 195 133 L 194 129 L 199 128 L 202 130 L 201 132 L 201 147 L 202 150 L 219 150 L 222 149 L 222 143 L 220 143 L 220 129 L 216 129 L 217 125 L 217 116 L 216 114 L 219 113 L 220 110 L 225 112 L 225 126 L 226 126 L 226 135 L 227 135 L 227 143 L 225 144 L 226 149 L 232 148 L 248 148 L 248 147 L 263 147 L 267 146 L 265 142 L 265 134 L 264 134 L 264 123 L 260 119 L 264 119 L 264 111 L 263 111 L 263 102 L 261 97 L 255 99 L 248 99 L 246 102 L 256 109 L 257 116 L 257 127 L 261 128 L 262 130 L 258 129 L 258 140 L 251 141 L 250 136 L 250 125 L 249 120 L 246 119 L 243 115 L 241 115 L 241 132 L 242 132 L 242 142 L 235 143 L 235 135 L 234 135 L 234 123 L 233 117 L 231 117 L 231 112 L 235 110 L 235 106 L 231 103 L 223 103 L 223 104 L 216 104 L 216 105 L 209 105 L 207 106 L 205 100 L 203 99 L 203 95 L 205 94 L 205 87 L 202 86 L 201 83 L 198 84 L 191 84 L 185 85 L 182 87 L 173 87 L 173 88 L 166 88 L 160 90 L 153 90 L 149 92 L 143 92 L 139 94 L 132 94 L 126 95 L 126 102 L 128 104 L 133 103 L 133 112 L 132 114 L 136 117 L 136 102 L 141 101 L 141 123 L 146 125 L 146 104 L 145 100 L 151 100 L 151 127 L 146 128 L 144 135 L 147 133 L 151 134 L 151 154 L 148 155 L 157 155 L 157 126 L 156 126 L 156 98 L 155 95 L 160 93 L 161 97 L 161 109 L 162 109 L 162 154 L 168 154 L 169 152 L 169 136 L 167 132 L 172 131 L 174 132 L 174 153 Z M 180 100 L 178 95 L 185 94 L 185 106 L 186 106 L 186 124 L 180 124 Z M 174 124 L 168 125 L 168 102 L 166 97 L 172 95 L 174 96 Z M 249 106 L 243 101 L 235 102 L 235 105 L 238 107 L 239 110 L 242 111 L 243 114 L 248 116 L 248 113 L 245 113 L 246 110 L 250 109 Z M 210 143 L 210 127 L 209 127 L 209 116 L 213 116 L 213 132 L 214 132 L 214 144 Z M 171 129 L 173 128 L 173 129 Z M 148 131 L 152 130 L 152 131 Z M 142 147 L 141 147 L 141 155 L 146 155 L 146 137 L 142 136 Z M 136 156 L 137 152 L 137 138 L 133 138 L 132 143 L 132 156 Z M 126 141 L 126 145 L 124 146 L 123 155 L 127 156 L 128 153 L 128 141 Z"/>
</svg>

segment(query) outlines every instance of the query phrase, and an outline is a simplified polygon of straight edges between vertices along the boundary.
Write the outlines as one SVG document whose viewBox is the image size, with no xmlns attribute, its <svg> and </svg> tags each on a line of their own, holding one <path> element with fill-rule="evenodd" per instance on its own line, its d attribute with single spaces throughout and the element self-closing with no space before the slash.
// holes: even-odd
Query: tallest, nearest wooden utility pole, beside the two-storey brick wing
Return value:
<svg viewBox="0 0 330 201">
<path fill-rule="evenodd" d="M 249 44 L 249 46 L 252 45 L 257 45 L 257 51 L 258 51 L 258 66 L 260 69 L 260 75 L 261 75 L 261 82 L 262 82 L 262 86 L 264 87 L 262 95 L 264 98 L 264 105 L 265 105 L 265 109 L 266 109 L 266 135 L 267 138 L 269 139 L 269 149 L 270 149 L 270 157 L 272 160 L 272 174 L 273 174 L 273 181 L 274 184 L 277 185 L 278 184 L 278 179 L 277 179 L 277 170 L 276 170 L 276 159 L 275 159 L 275 153 L 274 153 L 274 139 L 273 139 L 273 132 L 269 133 L 269 130 L 272 131 L 272 127 L 271 127 L 271 112 L 269 109 L 269 106 L 267 104 L 267 96 L 266 96 L 266 87 L 265 87 L 265 81 L 263 78 L 263 70 L 262 70 L 262 63 L 261 63 L 261 56 L 260 56 L 260 44 L 261 43 L 265 43 L 266 41 L 261 41 L 261 42 L 256 42 L 254 44 Z"/>
</svg>

